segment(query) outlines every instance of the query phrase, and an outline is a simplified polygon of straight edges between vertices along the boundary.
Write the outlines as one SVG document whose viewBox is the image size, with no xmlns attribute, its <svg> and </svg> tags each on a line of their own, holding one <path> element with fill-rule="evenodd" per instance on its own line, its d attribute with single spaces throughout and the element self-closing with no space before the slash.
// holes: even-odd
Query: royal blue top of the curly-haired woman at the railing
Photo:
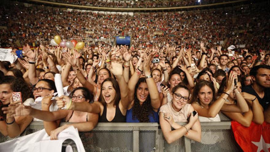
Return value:
<svg viewBox="0 0 270 152">
<path fill-rule="evenodd" d="M 136 116 L 135 116 L 135 119 L 132 119 L 132 109 L 133 108 L 127 110 L 126 122 L 127 123 L 139 123 L 140 121 L 137 119 Z M 156 112 L 156 111 L 153 111 L 153 114 L 149 114 L 148 118 L 149 118 L 149 123 L 158 123 L 159 122 L 158 112 Z"/>
</svg>

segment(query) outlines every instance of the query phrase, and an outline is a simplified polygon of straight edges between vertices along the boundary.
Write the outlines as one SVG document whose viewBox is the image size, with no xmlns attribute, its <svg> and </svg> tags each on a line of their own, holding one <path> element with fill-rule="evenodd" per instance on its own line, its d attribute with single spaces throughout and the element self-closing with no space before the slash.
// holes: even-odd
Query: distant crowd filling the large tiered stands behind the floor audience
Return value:
<svg viewBox="0 0 270 152">
<path fill-rule="evenodd" d="M 269 49 L 269 8 L 265 3 L 213 10 L 134 13 L 133 16 L 10 3 L 0 6 L 1 47 L 46 45 L 54 35 L 67 41 L 113 40 L 115 36 L 129 35 L 134 47 L 163 47 L 168 43 L 199 49 L 197 42 L 205 41 L 209 48 L 216 44 L 224 47 L 234 44 L 245 45 L 252 52 L 257 48 Z"/>
</svg>

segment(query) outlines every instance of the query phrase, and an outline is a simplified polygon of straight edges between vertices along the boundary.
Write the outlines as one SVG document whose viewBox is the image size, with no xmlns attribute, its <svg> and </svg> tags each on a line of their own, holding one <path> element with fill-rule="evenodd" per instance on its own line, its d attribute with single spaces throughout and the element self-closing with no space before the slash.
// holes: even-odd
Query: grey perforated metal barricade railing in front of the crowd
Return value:
<svg viewBox="0 0 270 152">
<path fill-rule="evenodd" d="M 64 124 L 66 123 L 60 125 Z M 158 123 L 98 123 L 92 131 L 80 132 L 79 135 L 86 151 L 240 151 L 234 140 L 230 121 L 202 122 L 201 126 L 202 143 L 182 137 L 168 144 Z M 25 134 L 43 128 L 43 122 L 32 122 Z M 0 142 L 10 139 L 0 136 Z"/>
</svg>

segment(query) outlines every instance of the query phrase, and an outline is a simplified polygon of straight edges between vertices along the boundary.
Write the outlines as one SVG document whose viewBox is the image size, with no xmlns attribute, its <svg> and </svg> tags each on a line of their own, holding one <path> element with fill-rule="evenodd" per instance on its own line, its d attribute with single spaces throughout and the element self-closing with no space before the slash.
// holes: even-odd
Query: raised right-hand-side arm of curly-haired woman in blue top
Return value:
<svg viewBox="0 0 270 152">
<path fill-rule="evenodd" d="M 156 51 L 149 54 L 149 56 L 145 59 L 143 63 L 143 72 L 145 74 L 145 79 L 146 79 L 146 83 L 147 83 L 150 98 L 151 98 L 151 106 L 153 107 L 154 110 L 157 111 L 160 107 L 160 98 L 159 98 L 159 93 L 156 87 L 156 83 L 154 79 L 152 78 L 151 72 L 150 72 L 151 60 L 155 56 L 155 54 L 156 54 Z"/>
</svg>

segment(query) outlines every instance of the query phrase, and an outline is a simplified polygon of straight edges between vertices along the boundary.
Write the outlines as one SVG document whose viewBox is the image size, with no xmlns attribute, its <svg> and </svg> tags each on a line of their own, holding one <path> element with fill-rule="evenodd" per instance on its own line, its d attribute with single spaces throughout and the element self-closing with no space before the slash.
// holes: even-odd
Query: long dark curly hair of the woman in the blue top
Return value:
<svg viewBox="0 0 270 152">
<path fill-rule="evenodd" d="M 135 86 L 135 93 L 134 93 L 134 104 L 133 104 L 133 110 L 132 110 L 132 119 L 137 119 L 140 121 L 140 123 L 147 123 L 149 122 L 149 115 L 153 115 L 153 107 L 151 106 L 151 99 L 150 95 L 147 96 L 145 102 L 143 102 L 142 105 L 140 105 L 140 101 L 137 98 L 137 89 L 141 83 L 145 82 L 145 78 L 140 78 Z"/>
</svg>

